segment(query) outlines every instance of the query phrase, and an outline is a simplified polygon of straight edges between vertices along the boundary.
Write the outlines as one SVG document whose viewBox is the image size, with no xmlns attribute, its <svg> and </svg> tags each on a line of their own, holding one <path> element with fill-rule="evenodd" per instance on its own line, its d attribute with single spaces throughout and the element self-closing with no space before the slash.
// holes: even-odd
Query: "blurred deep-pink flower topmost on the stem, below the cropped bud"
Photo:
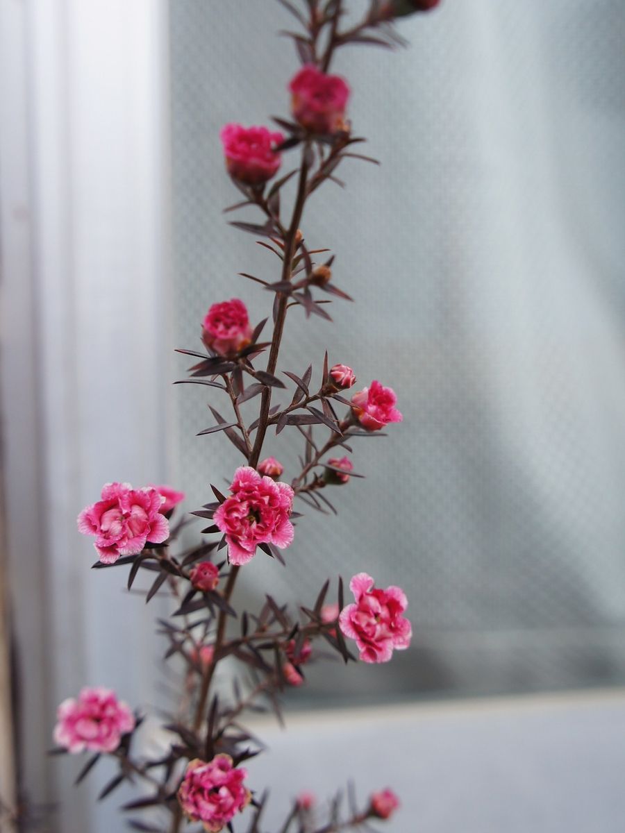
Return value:
<svg viewBox="0 0 625 833">
<path fill-rule="evenodd" d="M 313 133 L 335 133 L 343 129 L 349 87 L 338 75 L 326 75 L 313 64 L 302 67 L 288 85 L 291 112 L 302 127 Z"/>
</svg>

